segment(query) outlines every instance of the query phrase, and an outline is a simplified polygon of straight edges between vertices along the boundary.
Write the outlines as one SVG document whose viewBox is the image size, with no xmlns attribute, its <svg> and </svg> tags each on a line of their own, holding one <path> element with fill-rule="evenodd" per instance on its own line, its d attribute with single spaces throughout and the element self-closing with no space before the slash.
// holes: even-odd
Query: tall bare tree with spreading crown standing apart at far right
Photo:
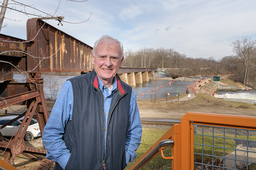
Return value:
<svg viewBox="0 0 256 170">
<path fill-rule="evenodd" d="M 242 40 L 238 39 L 231 44 L 231 46 L 233 47 L 233 52 L 242 59 L 244 64 L 243 85 L 246 85 L 248 83 L 249 66 L 256 50 L 255 45 L 256 41 L 253 40 L 251 37 L 245 37 Z"/>
</svg>

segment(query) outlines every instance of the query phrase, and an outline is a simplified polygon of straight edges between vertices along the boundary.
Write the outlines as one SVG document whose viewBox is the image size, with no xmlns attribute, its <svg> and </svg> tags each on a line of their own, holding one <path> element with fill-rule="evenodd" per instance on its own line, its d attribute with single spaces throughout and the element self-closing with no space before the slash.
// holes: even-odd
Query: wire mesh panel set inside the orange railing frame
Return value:
<svg viewBox="0 0 256 170">
<path fill-rule="evenodd" d="M 256 131 L 194 125 L 195 170 L 256 169 Z"/>
</svg>

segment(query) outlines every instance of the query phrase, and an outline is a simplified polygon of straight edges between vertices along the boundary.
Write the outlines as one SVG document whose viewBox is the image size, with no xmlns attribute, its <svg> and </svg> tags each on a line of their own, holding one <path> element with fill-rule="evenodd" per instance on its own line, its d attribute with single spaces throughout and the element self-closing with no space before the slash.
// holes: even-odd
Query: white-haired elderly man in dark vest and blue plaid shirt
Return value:
<svg viewBox="0 0 256 170">
<path fill-rule="evenodd" d="M 55 170 L 122 170 L 136 157 L 142 126 L 134 91 L 117 74 L 123 60 L 123 45 L 102 36 L 94 70 L 63 85 L 42 135 Z"/>
</svg>

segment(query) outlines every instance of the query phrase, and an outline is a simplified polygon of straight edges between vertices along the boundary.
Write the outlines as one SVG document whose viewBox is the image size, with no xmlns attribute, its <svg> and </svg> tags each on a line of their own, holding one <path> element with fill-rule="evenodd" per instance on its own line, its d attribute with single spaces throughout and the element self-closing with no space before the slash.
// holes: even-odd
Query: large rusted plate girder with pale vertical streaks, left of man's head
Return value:
<svg viewBox="0 0 256 170">
<path fill-rule="evenodd" d="M 27 56 L 28 70 L 33 69 L 33 72 L 93 70 L 91 46 L 40 19 L 28 19 L 27 39 L 33 39 L 27 46 L 29 54 L 33 56 Z M 40 66 L 36 67 L 38 64 Z"/>
</svg>

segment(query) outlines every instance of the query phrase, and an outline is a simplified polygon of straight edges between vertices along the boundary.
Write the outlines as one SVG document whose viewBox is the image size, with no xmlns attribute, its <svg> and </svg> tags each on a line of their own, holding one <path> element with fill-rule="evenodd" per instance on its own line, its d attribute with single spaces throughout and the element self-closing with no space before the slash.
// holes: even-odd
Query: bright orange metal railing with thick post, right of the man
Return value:
<svg viewBox="0 0 256 170">
<path fill-rule="evenodd" d="M 174 145 L 171 149 L 172 154 L 172 170 L 194 170 L 194 124 L 207 125 L 210 127 L 221 127 L 224 129 L 240 129 L 244 131 L 254 131 L 256 133 L 256 117 L 252 116 L 235 116 L 225 114 L 210 114 L 210 113 L 195 113 L 188 112 L 181 118 L 181 124 L 175 124 L 169 129 L 145 154 L 143 154 L 136 163 L 134 163 L 129 170 L 135 170 L 143 167 L 147 162 L 160 153 L 160 150 L 151 156 L 147 162 L 140 166 L 141 160 L 162 141 L 165 139 L 173 139 Z M 225 130 L 224 130 L 225 131 Z M 216 136 L 211 136 L 212 138 Z M 225 133 L 224 133 L 225 137 Z M 248 138 L 248 136 L 247 136 Z M 256 141 L 253 141 L 256 143 Z M 224 143 L 225 146 L 225 143 Z M 211 146 L 213 149 L 214 145 Z M 228 148 L 230 149 L 230 148 Z M 225 150 L 225 149 L 224 149 Z M 234 149 L 237 151 L 237 149 Z M 247 147 L 247 152 L 248 147 Z M 256 154 L 256 152 L 255 152 Z M 212 156 L 212 159 L 214 156 Z M 224 156 L 226 159 L 226 157 Z M 223 159 L 224 159 L 223 158 Z M 248 159 L 248 153 L 247 153 Z M 253 162 L 254 163 L 254 162 Z M 256 163 L 256 162 L 255 162 Z M 209 165 L 211 166 L 211 165 Z M 225 166 L 225 165 L 224 165 Z M 247 163 L 248 166 L 248 163 Z M 212 167 L 215 167 L 212 165 Z M 223 167 L 224 168 L 224 167 Z"/>
</svg>

